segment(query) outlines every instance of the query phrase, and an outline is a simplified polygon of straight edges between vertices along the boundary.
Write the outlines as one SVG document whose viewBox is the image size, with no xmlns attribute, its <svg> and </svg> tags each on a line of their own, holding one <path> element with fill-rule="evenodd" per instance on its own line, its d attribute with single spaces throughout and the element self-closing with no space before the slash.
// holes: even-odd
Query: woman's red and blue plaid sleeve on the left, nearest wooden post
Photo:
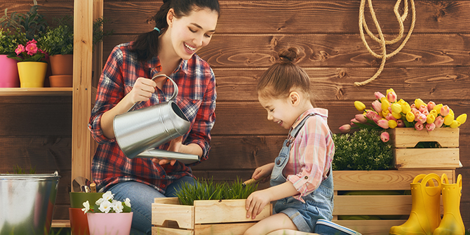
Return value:
<svg viewBox="0 0 470 235">
<path fill-rule="evenodd" d="M 115 139 L 109 139 L 103 135 L 101 129 L 102 114 L 112 107 L 116 106 L 124 96 L 124 83 L 121 68 L 123 65 L 123 51 L 116 46 L 106 62 L 98 83 L 95 106 L 93 107 L 88 122 L 93 139 L 102 144 L 105 142 L 114 142 Z M 121 85 L 119 85 L 121 84 Z"/>
</svg>

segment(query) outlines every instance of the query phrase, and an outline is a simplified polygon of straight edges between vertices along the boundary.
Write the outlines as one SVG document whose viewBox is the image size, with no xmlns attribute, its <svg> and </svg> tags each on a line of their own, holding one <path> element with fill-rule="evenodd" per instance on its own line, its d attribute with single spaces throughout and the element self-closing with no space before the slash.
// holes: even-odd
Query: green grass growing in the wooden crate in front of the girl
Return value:
<svg viewBox="0 0 470 235">
<path fill-rule="evenodd" d="M 243 185 L 238 178 L 231 183 L 203 179 L 194 184 L 184 182 L 176 194 L 181 205 L 193 206 L 195 200 L 246 199 L 256 191 L 257 185 Z"/>
</svg>

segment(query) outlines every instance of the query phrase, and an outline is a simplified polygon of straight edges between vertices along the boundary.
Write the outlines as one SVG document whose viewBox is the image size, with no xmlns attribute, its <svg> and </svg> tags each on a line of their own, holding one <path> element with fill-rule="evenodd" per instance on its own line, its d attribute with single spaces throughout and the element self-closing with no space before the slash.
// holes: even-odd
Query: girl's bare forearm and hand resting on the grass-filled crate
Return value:
<svg viewBox="0 0 470 235">
<path fill-rule="evenodd" d="M 294 185 L 287 181 L 283 184 L 278 184 L 274 187 L 263 189 L 257 192 L 253 192 L 246 199 L 246 217 L 255 219 L 256 215 L 260 214 L 264 206 L 266 206 L 271 201 L 276 201 L 278 199 L 283 199 L 288 196 L 294 196 L 299 194 Z"/>
</svg>

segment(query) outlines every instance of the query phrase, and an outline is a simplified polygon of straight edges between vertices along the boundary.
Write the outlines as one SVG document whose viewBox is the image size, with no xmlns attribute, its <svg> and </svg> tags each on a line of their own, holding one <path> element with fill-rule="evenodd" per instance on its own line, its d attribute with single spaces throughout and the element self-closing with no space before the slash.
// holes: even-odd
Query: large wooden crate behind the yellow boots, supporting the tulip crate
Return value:
<svg viewBox="0 0 470 235">
<path fill-rule="evenodd" d="M 410 190 L 410 183 L 419 174 L 445 173 L 454 182 L 455 170 L 333 170 L 335 207 L 333 222 L 354 229 L 363 235 L 388 234 L 389 229 L 406 221 L 411 211 L 411 195 L 339 195 L 345 191 Z M 443 213 L 441 203 L 441 213 Z M 341 215 L 387 217 L 398 215 L 399 220 L 344 220 Z"/>
</svg>

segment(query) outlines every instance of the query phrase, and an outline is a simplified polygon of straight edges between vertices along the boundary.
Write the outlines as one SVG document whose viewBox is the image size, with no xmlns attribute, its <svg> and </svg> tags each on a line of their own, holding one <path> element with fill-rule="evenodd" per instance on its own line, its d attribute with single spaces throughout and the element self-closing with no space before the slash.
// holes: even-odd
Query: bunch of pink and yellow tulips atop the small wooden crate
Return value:
<svg viewBox="0 0 470 235">
<path fill-rule="evenodd" d="M 372 107 L 366 109 L 363 102 L 356 101 L 354 106 L 363 114 L 356 114 L 351 119 L 351 124 L 340 127 L 343 133 L 351 128 L 367 128 L 372 130 L 384 130 L 388 128 L 415 128 L 416 130 L 434 130 L 436 128 L 457 128 L 466 121 L 466 114 L 461 114 L 455 119 L 455 114 L 447 105 L 429 101 L 425 103 L 416 99 L 411 105 L 404 100 L 398 100 L 394 89 L 387 90 L 387 95 L 375 93 Z M 353 126 L 353 127 L 351 127 Z M 382 140 L 387 140 L 387 134 L 382 133 Z"/>
</svg>

